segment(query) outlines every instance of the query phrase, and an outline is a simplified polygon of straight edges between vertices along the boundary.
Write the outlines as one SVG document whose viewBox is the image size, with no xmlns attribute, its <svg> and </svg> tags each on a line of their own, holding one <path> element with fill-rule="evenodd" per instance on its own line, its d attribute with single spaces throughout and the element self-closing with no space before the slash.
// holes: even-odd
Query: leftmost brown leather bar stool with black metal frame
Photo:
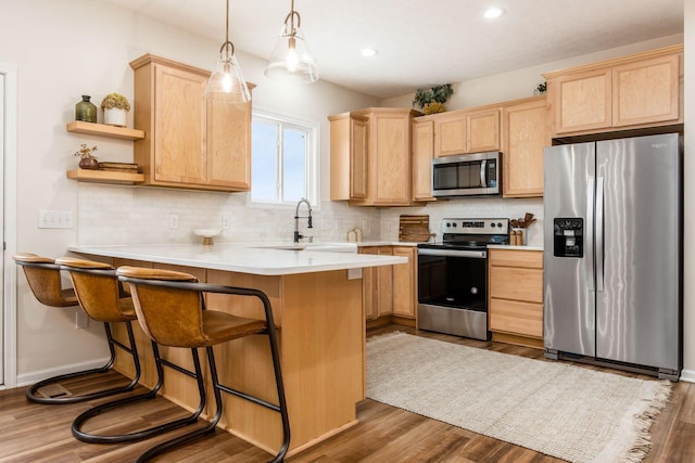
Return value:
<svg viewBox="0 0 695 463">
<path fill-rule="evenodd" d="M 39 303 L 50 307 L 74 307 L 79 304 L 73 288 L 63 288 L 61 283 L 61 267 L 60 265 L 55 263 L 53 259 L 29 253 L 16 254 L 15 256 L 13 256 L 13 259 L 24 270 L 24 274 L 27 282 L 29 283 L 29 287 L 31 288 L 34 296 L 39 300 Z M 112 269 L 112 271 L 114 270 Z M 127 306 L 127 308 L 124 309 L 124 313 L 127 313 L 127 316 L 124 316 L 125 319 L 135 320 L 132 299 L 124 299 L 123 304 Z M 117 321 L 125 320 L 119 319 Z M 106 340 L 109 342 L 109 350 L 111 352 L 111 358 L 105 365 L 97 369 L 62 374 L 40 381 L 27 388 L 27 399 L 33 402 L 48 404 L 75 403 L 132 390 L 140 378 L 140 362 L 138 360 L 138 351 L 135 346 L 135 339 L 132 338 L 132 336 L 130 336 L 130 346 L 125 346 L 112 337 L 109 322 L 104 322 L 104 330 L 106 331 Z M 129 331 L 129 333 L 131 333 L 131 331 Z M 111 371 L 111 366 L 113 366 L 113 362 L 115 360 L 116 346 L 132 356 L 136 365 L 136 375 L 129 384 L 77 396 L 43 397 L 42 395 L 40 395 L 39 390 L 47 386 L 55 386 L 61 382 L 77 378 L 80 376 L 87 376 L 93 373 L 108 373 L 109 371 Z"/>
</svg>

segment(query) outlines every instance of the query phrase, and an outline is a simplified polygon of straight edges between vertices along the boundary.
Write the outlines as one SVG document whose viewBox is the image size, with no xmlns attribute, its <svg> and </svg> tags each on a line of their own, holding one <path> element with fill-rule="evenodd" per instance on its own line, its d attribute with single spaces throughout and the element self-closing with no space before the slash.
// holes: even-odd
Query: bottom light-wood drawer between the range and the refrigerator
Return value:
<svg viewBox="0 0 695 463">
<path fill-rule="evenodd" d="M 490 330 L 543 337 L 543 305 L 490 299 Z"/>
</svg>

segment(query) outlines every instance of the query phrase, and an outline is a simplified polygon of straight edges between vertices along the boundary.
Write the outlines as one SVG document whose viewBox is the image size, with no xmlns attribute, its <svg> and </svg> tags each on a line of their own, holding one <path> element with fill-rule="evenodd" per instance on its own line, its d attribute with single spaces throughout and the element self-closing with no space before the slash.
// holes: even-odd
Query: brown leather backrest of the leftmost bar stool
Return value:
<svg viewBox="0 0 695 463">
<path fill-rule="evenodd" d="M 26 281 L 39 303 L 50 307 L 77 305 L 74 291 L 63 290 L 60 266 L 55 265 L 53 259 L 29 253 L 16 254 L 13 259 L 22 266 Z"/>
</svg>

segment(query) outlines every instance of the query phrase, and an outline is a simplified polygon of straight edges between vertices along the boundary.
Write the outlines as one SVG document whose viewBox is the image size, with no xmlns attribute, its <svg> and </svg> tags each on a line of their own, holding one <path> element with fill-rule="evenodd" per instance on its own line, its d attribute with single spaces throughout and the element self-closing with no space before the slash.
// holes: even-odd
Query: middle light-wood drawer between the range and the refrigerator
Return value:
<svg viewBox="0 0 695 463">
<path fill-rule="evenodd" d="M 490 297 L 543 303 L 543 270 L 491 267 Z"/>
</svg>

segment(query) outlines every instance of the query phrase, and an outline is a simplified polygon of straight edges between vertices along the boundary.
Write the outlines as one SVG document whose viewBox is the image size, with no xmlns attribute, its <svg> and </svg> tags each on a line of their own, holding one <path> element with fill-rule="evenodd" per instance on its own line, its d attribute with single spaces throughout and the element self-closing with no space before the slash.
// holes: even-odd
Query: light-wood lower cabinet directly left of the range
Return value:
<svg viewBox="0 0 695 463">
<path fill-rule="evenodd" d="M 363 246 L 359 254 L 407 257 L 408 262 L 363 269 L 363 304 L 367 326 L 401 323 L 415 326 L 417 307 L 417 247 Z"/>
</svg>

